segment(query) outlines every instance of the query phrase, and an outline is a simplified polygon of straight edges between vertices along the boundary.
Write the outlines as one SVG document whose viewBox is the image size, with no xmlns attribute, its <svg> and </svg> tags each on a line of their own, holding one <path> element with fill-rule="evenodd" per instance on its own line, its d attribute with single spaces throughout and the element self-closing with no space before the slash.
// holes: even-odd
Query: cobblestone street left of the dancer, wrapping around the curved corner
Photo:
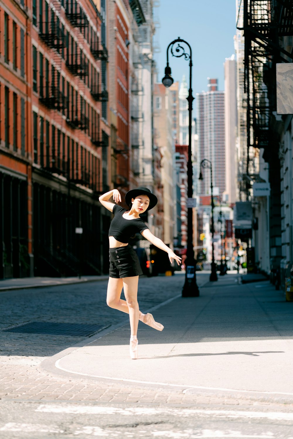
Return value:
<svg viewBox="0 0 293 439">
<path fill-rule="evenodd" d="M 199 286 L 208 275 L 198 276 Z M 181 294 L 183 275 L 140 279 L 140 309 L 146 311 Z M 101 328 L 127 322 L 128 316 L 106 305 L 107 281 L 62 285 L 1 293 L 0 398 L 22 400 L 69 400 L 101 402 L 192 401 L 194 396 L 177 392 L 145 391 L 133 387 L 91 383 L 47 374 L 39 364 L 83 337 L 6 332 L 29 322 L 99 324 Z"/>
</svg>

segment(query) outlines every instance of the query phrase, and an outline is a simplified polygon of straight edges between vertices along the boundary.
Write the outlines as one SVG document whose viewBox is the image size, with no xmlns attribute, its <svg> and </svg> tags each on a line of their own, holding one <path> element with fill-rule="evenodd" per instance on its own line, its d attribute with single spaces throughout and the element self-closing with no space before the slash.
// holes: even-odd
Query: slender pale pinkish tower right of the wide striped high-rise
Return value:
<svg viewBox="0 0 293 439">
<path fill-rule="evenodd" d="M 226 58 L 225 72 L 225 192 L 228 203 L 236 201 L 236 131 L 237 131 L 237 94 L 236 94 L 236 61 L 235 55 Z"/>
</svg>

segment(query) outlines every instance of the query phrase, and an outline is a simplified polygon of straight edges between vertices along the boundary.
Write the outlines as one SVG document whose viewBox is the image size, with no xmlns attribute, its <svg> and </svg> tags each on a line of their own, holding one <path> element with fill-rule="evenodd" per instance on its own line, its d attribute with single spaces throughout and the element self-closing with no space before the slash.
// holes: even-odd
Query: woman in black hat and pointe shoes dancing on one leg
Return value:
<svg viewBox="0 0 293 439">
<path fill-rule="evenodd" d="M 137 302 L 138 277 L 142 274 L 141 266 L 134 249 L 128 244 L 130 237 L 140 232 L 143 237 L 156 247 L 168 253 L 170 262 L 174 259 L 177 264 L 181 258 L 167 247 L 163 241 L 154 236 L 140 214 L 152 209 L 158 202 L 156 195 L 152 194 L 147 187 L 138 187 L 128 191 L 125 195 L 125 202 L 129 210 L 109 202 L 113 197 L 115 203 L 121 202 L 121 195 L 117 189 L 101 195 L 99 201 L 106 209 L 114 213 L 114 218 L 109 229 L 109 283 L 107 290 L 107 305 L 129 314 L 130 320 L 130 357 L 137 359 L 137 327 L 138 320 L 163 331 L 163 325 L 156 322 L 152 314 L 143 314 L 139 310 Z M 120 299 L 122 288 L 124 289 L 125 300 Z"/>
</svg>

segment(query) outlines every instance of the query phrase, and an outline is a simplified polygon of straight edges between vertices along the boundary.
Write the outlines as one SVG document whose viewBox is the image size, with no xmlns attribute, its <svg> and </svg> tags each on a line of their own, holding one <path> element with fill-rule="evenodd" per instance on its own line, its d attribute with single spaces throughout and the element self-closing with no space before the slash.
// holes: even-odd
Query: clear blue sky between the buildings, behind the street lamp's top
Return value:
<svg viewBox="0 0 293 439">
<path fill-rule="evenodd" d="M 160 0 L 160 6 L 154 8 L 160 21 L 155 36 L 161 49 L 155 54 L 159 82 L 164 76 L 167 46 L 180 36 L 192 47 L 193 96 L 207 90 L 207 77 L 218 78 L 219 90 L 224 90 L 223 63 L 234 53 L 235 4 L 235 0 Z M 174 81 L 180 82 L 183 74 L 188 81 L 188 61 L 170 55 Z"/>
</svg>

